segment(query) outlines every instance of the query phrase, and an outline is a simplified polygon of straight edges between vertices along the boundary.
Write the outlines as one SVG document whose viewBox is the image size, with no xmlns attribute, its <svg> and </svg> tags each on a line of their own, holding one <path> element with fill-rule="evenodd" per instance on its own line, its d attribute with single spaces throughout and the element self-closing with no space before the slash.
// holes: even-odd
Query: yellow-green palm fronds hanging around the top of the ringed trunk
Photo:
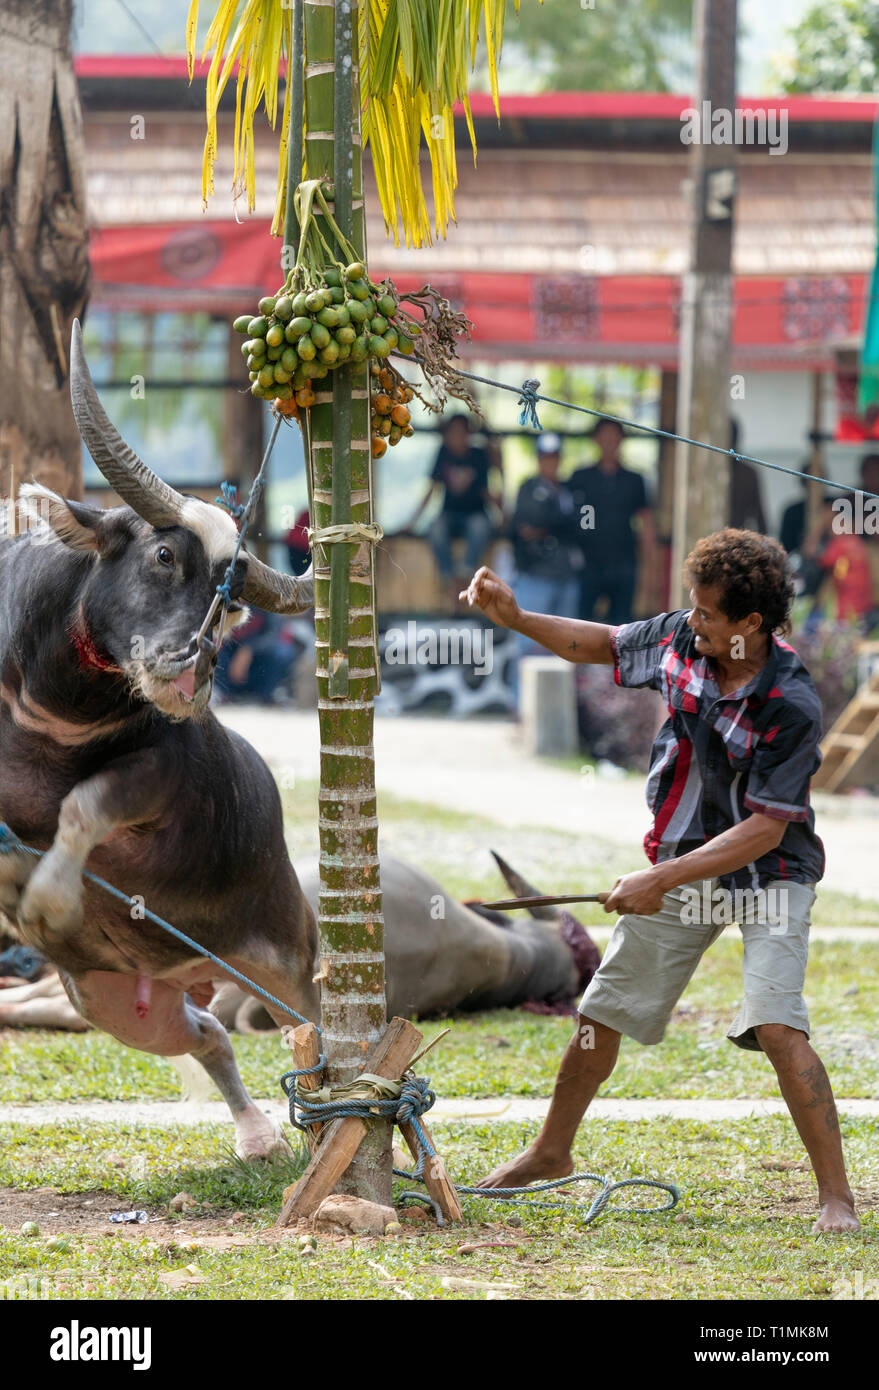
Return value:
<svg viewBox="0 0 879 1390">
<path fill-rule="evenodd" d="M 519 10 L 519 0 L 513 0 Z M 542 3 L 542 0 L 540 0 Z M 476 157 L 473 120 L 467 100 L 470 72 L 484 35 L 488 79 L 498 111 L 498 60 L 503 43 L 508 0 L 359 0 L 359 65 L 363 145 L 369 145 L 378 199 L 388 235 L 399 242 L 401 228 L 410 246 L 431 239 L 420 154 L 431 165 L 434 229 L 445 236 L 455 220 L 458 164 L 453 107 L 465 108 Z M 192 79 L 199 0 L 186 18 L 186 56 Z M 235 70 L 234 175 L 235 196 L 246 195 L 248 210 L 256 200 L 253 125 L 260 104 L 274 128 L 278 114 L 278 79 L 292 47 L 289 0 L 217 0 L 207 31 L 204 56 L 211 54 L 206 82 L 207 132 L 202 168 L 202 193 L 214 190 L 217 113 Z M 278 196 L 273 232 L 280 232 L 287 178 L 287 146 L 291 120 L 289 83 L 284 99 Z"/>
</svg>

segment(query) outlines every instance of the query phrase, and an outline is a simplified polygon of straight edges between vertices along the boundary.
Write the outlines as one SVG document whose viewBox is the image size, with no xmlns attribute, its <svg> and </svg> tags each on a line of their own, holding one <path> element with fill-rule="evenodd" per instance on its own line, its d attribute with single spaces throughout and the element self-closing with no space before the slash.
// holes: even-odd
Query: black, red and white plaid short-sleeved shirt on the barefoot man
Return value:
<svg viewBox="0 0 879 1390">
<path fill-rule="evenodd" d="M 722 695 L 713 660 L 697 652 L 688 616 L 661 613 L 611 632 L 616 684 L 659 691 L 669 712 L 650 759 L 647 858 L 680 858 L 748 812 L 761 812 L 786 820 L 784 835 L 754 863 L 720 874 L 723 887 L 816 883 L 825 855 L 809 806 L 809 778 L 821 763 L 821 701 L 812 680 L 793 646 L 773 637 L 757 676 Z"/>
</svg>

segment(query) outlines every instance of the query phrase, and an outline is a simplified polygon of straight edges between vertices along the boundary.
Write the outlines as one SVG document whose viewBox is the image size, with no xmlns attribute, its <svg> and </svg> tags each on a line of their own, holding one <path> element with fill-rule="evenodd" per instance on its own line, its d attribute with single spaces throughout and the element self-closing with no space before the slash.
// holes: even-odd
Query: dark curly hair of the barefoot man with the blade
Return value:
<svg viewBox="0 0 879 1390">
<path fill-rule="evenodd" d="M 720 612 L 732 623 L 761 613 L 761 632 L 790 632 L 793 573 L 787 552 L 772 537 L 733 527 L 715 531 L 690 550 L 684 578 L 716 588 Z"/>
</svg>

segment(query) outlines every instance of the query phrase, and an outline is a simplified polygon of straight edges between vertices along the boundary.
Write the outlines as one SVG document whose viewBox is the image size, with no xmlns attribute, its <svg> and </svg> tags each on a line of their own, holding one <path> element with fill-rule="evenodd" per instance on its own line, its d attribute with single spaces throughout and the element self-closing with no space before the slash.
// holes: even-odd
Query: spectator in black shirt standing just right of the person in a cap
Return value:
<svg viewBox="0 0 879 1390">
<path fill-rule="evenodd" d="M 655 560 L 654 517 L 644 478 L 620 461 L 623 427 L 616 420 L 599 420 L 592 438 L 599 449 L 598 463 L 577 468 L 567 480 L 583 553 L 580 617 L 590 621 L 595 603 L 605 598 L 602 621 L 618 626 L 631 621 L 638 560 L 641 564 Z M 641 531 L 640 555 L 636 521 Z"/>
</svg>

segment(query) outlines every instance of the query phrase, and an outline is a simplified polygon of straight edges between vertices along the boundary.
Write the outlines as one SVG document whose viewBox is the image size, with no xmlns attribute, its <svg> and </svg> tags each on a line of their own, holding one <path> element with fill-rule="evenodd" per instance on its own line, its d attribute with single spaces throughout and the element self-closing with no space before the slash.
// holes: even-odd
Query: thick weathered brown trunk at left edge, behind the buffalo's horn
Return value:
<svg viewBox="0 0 879 1390">
<path fill-rule="evenodd" d="M 72 0 L 0 0 L 0 496 L 36 477 L 81 496 L 71 322 L 88 300 Z"/>
</svg>

